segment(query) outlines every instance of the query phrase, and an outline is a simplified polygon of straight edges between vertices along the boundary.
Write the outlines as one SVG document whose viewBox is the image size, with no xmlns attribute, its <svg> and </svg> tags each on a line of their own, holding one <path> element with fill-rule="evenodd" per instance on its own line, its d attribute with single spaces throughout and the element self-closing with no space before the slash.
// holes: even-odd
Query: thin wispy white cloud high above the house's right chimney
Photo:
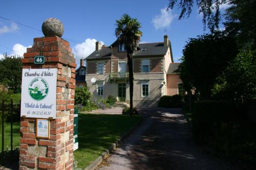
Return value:
<svg viewBox="0 0 256 170">
<path fill-rule="evenodd" d="M 166 8 L 163 8 L 161 9 L 161 14 L 156 15 L 152 19 L 152 23 L 156 30 L 161 28 L 168 28 L 175 17 L 176 15 L 172 14 L 172 10 L 166 11 Z"/>
</svg>

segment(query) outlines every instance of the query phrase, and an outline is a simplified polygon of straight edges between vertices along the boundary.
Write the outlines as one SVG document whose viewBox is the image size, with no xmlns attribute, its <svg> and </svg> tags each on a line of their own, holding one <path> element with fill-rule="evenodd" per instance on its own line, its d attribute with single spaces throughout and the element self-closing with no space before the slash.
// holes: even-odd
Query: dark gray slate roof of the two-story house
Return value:
<svg viewBox="0 0 256 170">
<path fill-rule="evenodd" d="M 116 41 L 115 41 L 116 42 Z M 169 46 L 164 46 L 163 42 L 141 43 L 139 49 L 134 53 L 134 57 L 143 57 L 151 55 L 165 55 Z M 105 59 L 112 55 L 110 47 L 102 47 L 99 51 L 94 51 L 86 59 Z"/>
</svg>

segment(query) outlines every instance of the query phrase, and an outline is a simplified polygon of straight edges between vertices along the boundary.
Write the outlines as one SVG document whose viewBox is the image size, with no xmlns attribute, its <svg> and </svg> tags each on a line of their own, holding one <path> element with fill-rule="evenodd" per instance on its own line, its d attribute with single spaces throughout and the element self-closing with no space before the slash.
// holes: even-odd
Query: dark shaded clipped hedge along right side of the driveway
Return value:
<svg viewBox="0 0 256 170">
<path fill-rule="evenodd" d="M 194 104 L 193 135 L 215 154 L 256 163 L 256 125 L 238 116 L 230 102 L 204 101 Z M 250 169 L 250 168 L 249 168 Z"/>
</svg>

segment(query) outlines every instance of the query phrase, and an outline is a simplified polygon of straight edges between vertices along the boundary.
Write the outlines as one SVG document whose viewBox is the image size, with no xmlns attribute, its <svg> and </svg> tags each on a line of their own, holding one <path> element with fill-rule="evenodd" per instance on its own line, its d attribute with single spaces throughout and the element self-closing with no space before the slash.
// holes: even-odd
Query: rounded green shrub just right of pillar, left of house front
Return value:
<svg viewBox="0 0 256 170">
<path fill-rule="evenodd" d="M 92 94 L 89 91 L 89 87 L 82 86 L 81 88 L 75 88 L 75 105 L 81 104 L 87 106 L 91 102 Z"/>
</svg>

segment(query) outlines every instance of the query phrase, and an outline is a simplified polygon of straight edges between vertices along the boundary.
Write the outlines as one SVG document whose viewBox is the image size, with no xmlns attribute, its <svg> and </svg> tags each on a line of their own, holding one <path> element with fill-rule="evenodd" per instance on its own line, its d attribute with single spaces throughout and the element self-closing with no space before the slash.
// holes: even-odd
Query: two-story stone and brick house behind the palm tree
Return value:
<svg viewBox="0 0 256 170">
<path fill-rule="evenodd" d="M 96 50 L 86 58 L 86 82 L 94 98 L 112 94 L 120 102 L 130 103 L 127 54 L 123 44 L 110 46 L 96 42 Z M 173 63 L 168 36 L 163 42 L 140 43 L 133 56 L 134 106 L 154 107 L 167 94 L 167 71 Z"/>
</svg>

